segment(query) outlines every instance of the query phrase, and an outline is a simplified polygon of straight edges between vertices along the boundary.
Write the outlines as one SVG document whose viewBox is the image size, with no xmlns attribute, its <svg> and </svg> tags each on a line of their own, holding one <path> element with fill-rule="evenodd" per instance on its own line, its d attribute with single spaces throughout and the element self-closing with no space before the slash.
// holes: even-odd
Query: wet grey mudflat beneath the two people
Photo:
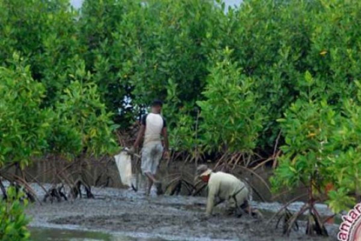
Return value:
<svg viewBox="0 0 361 241">
<path fill-rule="evenodd" d="M 205 220 L 203 197 L 145 197 L 142 192 L 113 188 L 94 188 L 93 192 L 95 199 L 30 205 L 31 226 L 100 230 L 158 240 L 336 240 L 336 225 L 327 227 L 328 238 L 305 236 L 305 223 L 300 223 L 299 232 L 285 237 L 282 230 L 275 230 L 275 221 L 266 224 L 249 216 L 234 218 L 222 213 Z M 218 211 L 222 212 L 222 206 Z"/>
</svg>

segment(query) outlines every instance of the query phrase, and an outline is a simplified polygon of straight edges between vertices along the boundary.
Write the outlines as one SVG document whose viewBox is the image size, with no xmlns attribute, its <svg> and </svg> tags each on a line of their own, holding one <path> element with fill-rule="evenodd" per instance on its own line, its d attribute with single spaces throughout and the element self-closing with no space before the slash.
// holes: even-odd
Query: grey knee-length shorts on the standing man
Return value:
<svg viewBox="0 0 361 241">
<path fill-rule="evenodd" d="M 142 164 L 141 169 L 143 174 L 150 172 L 156 174 L 159 161 L 163 155 L 163 146 L 160 142 L 149 143 L 142 148 Z"/>
</svg>

